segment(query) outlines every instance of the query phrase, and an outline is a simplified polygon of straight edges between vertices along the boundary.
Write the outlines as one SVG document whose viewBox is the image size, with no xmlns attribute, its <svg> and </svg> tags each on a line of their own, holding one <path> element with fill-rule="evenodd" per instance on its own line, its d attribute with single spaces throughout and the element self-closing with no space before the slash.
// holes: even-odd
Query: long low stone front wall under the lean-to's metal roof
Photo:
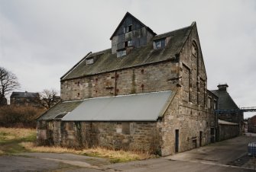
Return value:
<svg viewBox="0 0 256 172">
<path fill-rule="evenodd" d="M 157 122 L 37 122 L 38 145 L 103 147 L 160 154 Z"/>
</svg>

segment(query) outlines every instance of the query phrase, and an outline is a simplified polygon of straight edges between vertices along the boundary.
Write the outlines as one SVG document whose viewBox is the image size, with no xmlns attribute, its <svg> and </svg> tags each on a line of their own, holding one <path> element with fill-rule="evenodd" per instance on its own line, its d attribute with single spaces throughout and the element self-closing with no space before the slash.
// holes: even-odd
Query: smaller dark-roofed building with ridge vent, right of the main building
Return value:
<svg viewBox="0 0 256 172">
<path fill-rule="evenodd" d="M 235 101 L 228 94 L 228 84 L 219 84 L 218 90 L 212 93 L 219 97 L 215 100 L 215 106 L 218 107 L 216 115 L 219 119 L 218 141 L 230 139 L 243 134 L 244 132 L 244 113 L 235 104 Z"/>
</svg>

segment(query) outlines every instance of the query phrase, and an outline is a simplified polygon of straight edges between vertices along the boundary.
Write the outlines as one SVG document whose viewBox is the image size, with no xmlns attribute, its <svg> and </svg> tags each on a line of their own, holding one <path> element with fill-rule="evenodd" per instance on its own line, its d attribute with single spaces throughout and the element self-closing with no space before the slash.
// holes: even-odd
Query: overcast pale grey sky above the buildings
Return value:
<svg viewBox="0 0 256 172">
<path fill-rule="evenodd" d="M 60 91 L 76 62 L 111 47 L 127 11 L 157 34 L 196 21 L 208 89 L 227 83 L 239 107 L 256 106 L 254 0 L 0 0 L 0 66 L 17 75 L 20 91 Z"/>
</svg>

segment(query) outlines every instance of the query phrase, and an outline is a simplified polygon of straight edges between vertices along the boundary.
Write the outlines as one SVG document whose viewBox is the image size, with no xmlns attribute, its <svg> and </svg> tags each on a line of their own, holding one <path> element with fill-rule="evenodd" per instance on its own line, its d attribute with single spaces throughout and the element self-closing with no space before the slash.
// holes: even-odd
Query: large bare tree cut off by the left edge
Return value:
<svg viewBox="0 0 256 172">
<path fill-rule="evenodd" d="M 20 84 L 16 75 L 0 66 L 0 105 L 6 100 L 6 95 L 19 87 Z"/>
</svg>

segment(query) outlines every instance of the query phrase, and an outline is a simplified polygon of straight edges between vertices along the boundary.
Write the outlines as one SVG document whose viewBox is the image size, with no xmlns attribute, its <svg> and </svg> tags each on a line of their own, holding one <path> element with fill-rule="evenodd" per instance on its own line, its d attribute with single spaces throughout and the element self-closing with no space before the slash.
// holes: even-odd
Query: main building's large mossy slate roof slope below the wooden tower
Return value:
<svg viewBox="0 0 256 172">
<path fill-rule="evenodd" d="M 150 43 L 147 43 L 147 46 L 134 48 L 127 56 L 121 58 L 117 58 L 116 54 L 112 54 L 111 49 L 105 49 L 98 53 L 89 53 L 60 79 L 63 81 L 71 78 L 84 77 L 86 75 L 95 75 L 103 72 L 111 72 L 118 69 L 175 59 L 176 55 L 179 54 L 183 48 L 194 24 L 195 23 L 193 22 L 189 27 L 157 35 L 153 37 Z M 153 40 L 161 37 L 171 38 L 164 49 L 154 49 Z M 91 65 L 86 65 L 86 59 L 95 56 L 97 56 L 96 62 Z"/>
</svg>

